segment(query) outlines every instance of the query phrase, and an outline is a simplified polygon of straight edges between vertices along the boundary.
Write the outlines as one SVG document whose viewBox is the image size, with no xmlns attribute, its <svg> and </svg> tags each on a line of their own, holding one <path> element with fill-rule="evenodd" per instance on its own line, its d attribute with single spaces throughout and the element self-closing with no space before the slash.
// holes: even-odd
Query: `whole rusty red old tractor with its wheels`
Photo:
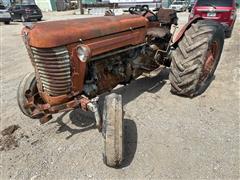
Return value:
<svg viewBox="0 0 240 180">
<path fill-rule="evenodd" d="M 223 27 L 215 21 L 196 17 L 173 42 L 174 10 L 154 13 L 143 6 L 129 12 L 26 24 L 22 31 L 34 73 L 20 82 L 21 111 L 41 123 L 75 108 L 93 112 L 111 167 L 124 158 L 122 98 L 106 96 L 100 113 L 98 96 L 139 76 L 157 76 L 163 67 L 171 69 L 172 93 L 197 96 L 209 85 L 224 43 Z"/>
</svg>

